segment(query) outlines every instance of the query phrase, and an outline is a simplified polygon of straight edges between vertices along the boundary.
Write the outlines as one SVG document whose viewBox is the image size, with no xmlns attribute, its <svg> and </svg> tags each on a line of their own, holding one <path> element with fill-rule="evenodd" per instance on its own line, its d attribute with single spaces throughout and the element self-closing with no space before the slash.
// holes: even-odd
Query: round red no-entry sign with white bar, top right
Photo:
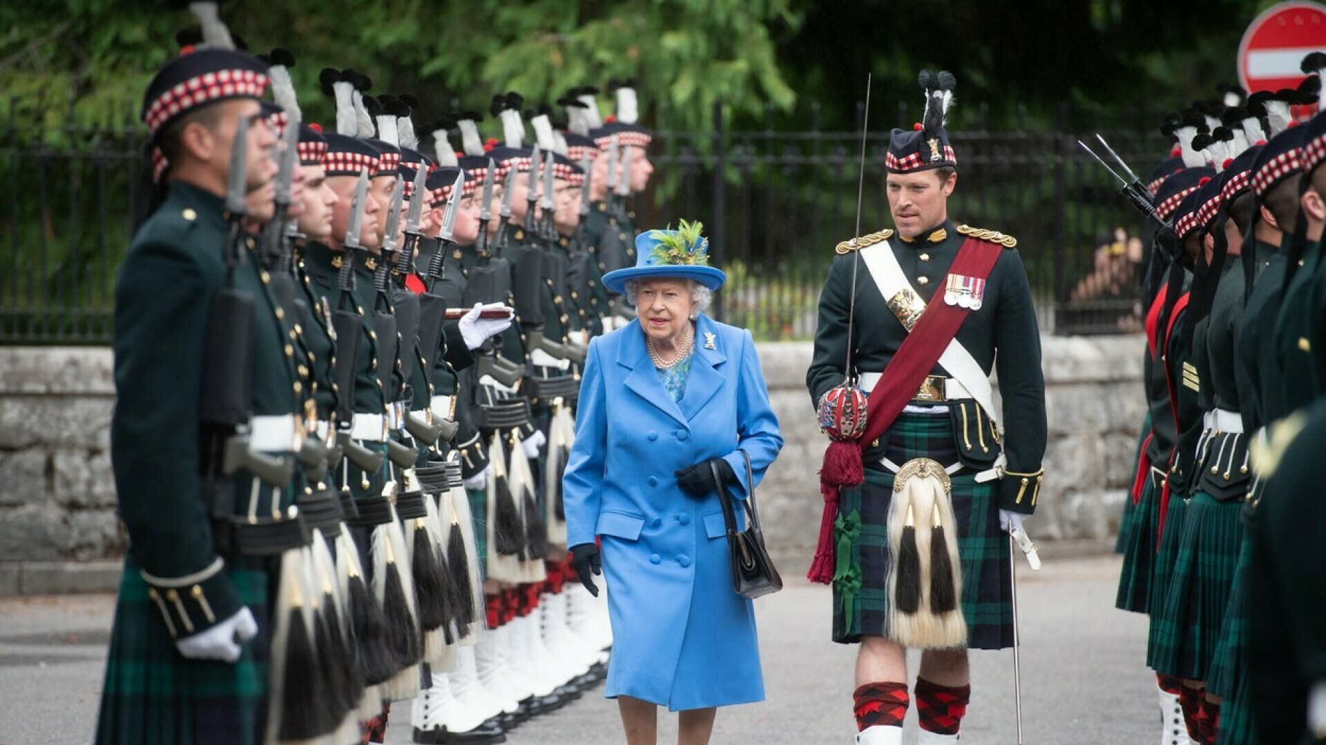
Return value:
<svg viewBox="0 0 1326 745">
<path fill-rule="evenodd" d="M 1326 7 L 1272 5 L 1238 44 L 1238 82 L 1248 93 L 1297 87 L 1303 80 L 1299 64 L 1309 52 L 1326 52 Z"/>
</svg>

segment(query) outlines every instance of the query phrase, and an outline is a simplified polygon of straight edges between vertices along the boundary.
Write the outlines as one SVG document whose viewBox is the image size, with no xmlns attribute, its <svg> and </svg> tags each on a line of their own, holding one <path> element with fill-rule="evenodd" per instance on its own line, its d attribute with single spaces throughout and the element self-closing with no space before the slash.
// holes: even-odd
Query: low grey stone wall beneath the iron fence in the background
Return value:
<svg viewBox="0 0 1326 745">
<path fill-rule="evenodd" d="M 1132 479 L 1142 399 L 1140 335 L 1044 339 L 1050 444 L 1037 541 L 1105 538 Z M 770 547 L 804 571 L 819 526 L 825 437 L 805 390 L 809 342 L 762 343 L 786 444 L 760 489 Z M 97 589 L 125 549 L 110 475 L 107 349 L 0 350 L 0 595 Z M 89 574 L 107 562 L 103 571 Z"/>
</svg>

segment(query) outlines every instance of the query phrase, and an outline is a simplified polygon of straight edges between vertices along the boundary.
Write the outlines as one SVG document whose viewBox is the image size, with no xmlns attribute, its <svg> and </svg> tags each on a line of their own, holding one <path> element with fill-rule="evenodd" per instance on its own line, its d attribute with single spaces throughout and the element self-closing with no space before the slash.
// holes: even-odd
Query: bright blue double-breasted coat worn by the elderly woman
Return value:
<svg viewBox="0 0 1326 745">
<path fill-rule="evenodd" d="M 609 697 L 672 711 L 764 700 L 754 610 L 732 591 L 719 494 L 695 500 L 672 476 L 721 456 L 743 481 L 729 494 L 744 497 L 752 485 L 739 447 L 756 483 L 782 447 L 749 331 L 699 317 L 680 403 L 659 382 L 639 323 L 590 342 L 562 489 L 568 545 L 602 537 Z"/>
</svg>

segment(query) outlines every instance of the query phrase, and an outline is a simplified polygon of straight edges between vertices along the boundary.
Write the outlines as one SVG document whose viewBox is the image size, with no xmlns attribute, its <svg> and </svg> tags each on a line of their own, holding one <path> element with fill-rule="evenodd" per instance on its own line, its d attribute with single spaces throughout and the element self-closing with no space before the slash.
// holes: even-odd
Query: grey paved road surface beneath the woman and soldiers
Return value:
<svg viewBox="0 0 1326 745">
<path fill-rule="evenodd" d="M 1020 566 L 1024 742 L 1155 740 L 1155 679 L 1143 667 L 1147 624 L 1114 610 L 1118 570 L 1115 557 L 1052 558 L 1037 574 Z M 827 640 L 829 606 L 826 589 L 805 583 L 756 602 L 768 700 L 720 711 L 715 745 L 851 742 L 854 648 Z M 0 602 L 0 745 L 90 740 L 111 610 L 109 595 Z M 1012 652 L 976 652 L 972 668 L 964 745 L 1014 744 Z M 662 713 L 659 730 L 660 742 L 675 742 L 675 716 Z M 410 742 L 404 712 L 387 741 Z M 598 745 L 622 736 L 615 704 L 599 689 L 526 722 L 508 742 Z"/>
</svg>

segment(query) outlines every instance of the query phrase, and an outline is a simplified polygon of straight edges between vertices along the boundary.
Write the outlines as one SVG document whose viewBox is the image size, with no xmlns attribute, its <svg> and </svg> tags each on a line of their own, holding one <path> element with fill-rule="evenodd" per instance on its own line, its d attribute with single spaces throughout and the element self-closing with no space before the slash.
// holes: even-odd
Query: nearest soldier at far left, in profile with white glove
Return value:
<svg viewBox="0 0 1326 745">
<path fill-rule="evenodd" d="M 221 85 L 219 80 L 229 80 Z M 248 191 L 271 183 L 276 135 L 259 98 L 259 60 L 210 45 L 167 62 L 152 78 L 142 115 L 168 159 L 168 198 L 139 228 L 115 292 L 115 384 L 111 463 L 129 532 L 97 742 L 257 742 L 267 718 L 268 652 L 278 559 L 244 555 L 228 536 L 231 514 L 282 509 L 290 497 L 257 489 L 239 468 L 233 505 L 208 504 L 202 475 L 199 402 L 212 298 L 225 282 L 229 228 L 224 198 L 239 127 L 247 130 Z M 180 91 L 190 91 L 182 97 Z M 271 217 L 271 205 L 268 205 Z M 263 217 L 263 216 L 260 216 Z M 241 249 L 243 251 L 243 249 Z M 247 257 L 233 288 L 257 298 L 252 399 L 257 416 L 289 416 L 294 371 L 282 357 L 278 318 Z M 274 420 L 273 420 L 274 422 Z"/>
</svg>

